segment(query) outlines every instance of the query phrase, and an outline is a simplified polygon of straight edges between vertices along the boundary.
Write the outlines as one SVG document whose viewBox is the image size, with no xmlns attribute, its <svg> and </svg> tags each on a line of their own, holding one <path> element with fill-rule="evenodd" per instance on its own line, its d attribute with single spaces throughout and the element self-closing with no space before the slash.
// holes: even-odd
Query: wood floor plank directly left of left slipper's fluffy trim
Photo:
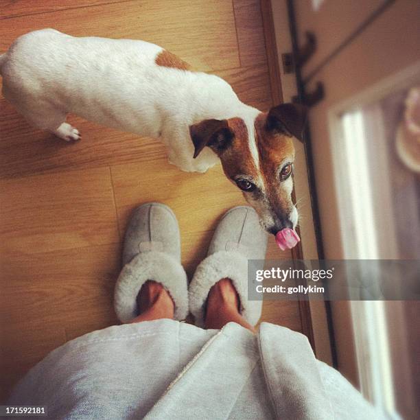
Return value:
<svg viewBox="0 0 420 420">
<path fill-rule="evenodd" d="M 119 245 L 113 244 L 57 250 L 32 258 L 9 257 L 8 264 L 14 269 L 1 276 L 4 305 L 0 314 L 5 329 L 10 333 L 22 323 L 63 329 L 117 323 L 113 290 L 120 255 Z"/>
</svg>

